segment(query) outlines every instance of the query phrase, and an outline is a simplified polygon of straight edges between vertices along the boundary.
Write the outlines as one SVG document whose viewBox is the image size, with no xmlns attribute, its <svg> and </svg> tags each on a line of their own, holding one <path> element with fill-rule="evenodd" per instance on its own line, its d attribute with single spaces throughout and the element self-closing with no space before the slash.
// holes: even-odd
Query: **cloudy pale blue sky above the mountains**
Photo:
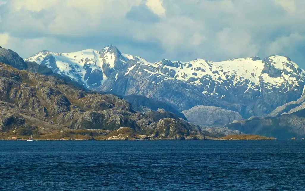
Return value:
<svg viewBox="0 0 305 191">
<path fill-rule="evenodd" d="M 109 44 L 150 62 L 290 57 L 305 68 L 304 0 L 0 0 L 0 46 L 23 58 Z"/>
</svg>

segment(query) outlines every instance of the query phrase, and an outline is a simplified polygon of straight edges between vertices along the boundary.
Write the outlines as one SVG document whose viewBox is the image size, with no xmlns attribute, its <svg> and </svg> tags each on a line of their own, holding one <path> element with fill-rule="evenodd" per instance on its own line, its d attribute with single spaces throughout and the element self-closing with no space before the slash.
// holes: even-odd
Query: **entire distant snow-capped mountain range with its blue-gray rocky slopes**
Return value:
<svg viewBox="0 0 305 191">
<path fill-rule="evenodd" d="M 92 90 L 119 95 L 139 94 L 164 101 L 179 110 L 212 105 L 262 116 L 297 100 L 304 93 L 305 73 L 289 58 L 271 55 L 213 62 L 145 59 L 121 53 L 114 46 L 75 53 L 41 51 L 35 61 L 69 76 Z"/>
</svg>

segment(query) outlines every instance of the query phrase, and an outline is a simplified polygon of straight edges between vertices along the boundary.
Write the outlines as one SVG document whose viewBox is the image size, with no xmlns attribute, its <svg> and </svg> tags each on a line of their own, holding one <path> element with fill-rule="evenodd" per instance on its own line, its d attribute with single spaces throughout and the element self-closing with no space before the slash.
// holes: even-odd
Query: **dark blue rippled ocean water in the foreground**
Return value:
<svg viewBox="0 0 305 191">
<path fill-rule="evenodd" d="M 0 190 L 305 190 L 305 141 L 0 141 Z"/>
</svg>

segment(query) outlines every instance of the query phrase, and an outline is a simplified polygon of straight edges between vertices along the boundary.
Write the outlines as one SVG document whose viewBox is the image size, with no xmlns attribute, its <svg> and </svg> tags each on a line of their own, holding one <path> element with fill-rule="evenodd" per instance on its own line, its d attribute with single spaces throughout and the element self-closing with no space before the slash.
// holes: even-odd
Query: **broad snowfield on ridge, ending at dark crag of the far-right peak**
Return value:
<svg viewBox="0 0 305 191">
<path fill-rule="evenodd" d="M 168 60 L 167 60 L 168 61 Z M 197 79 L 192 84 L 199 85 L 202 77 L 211 78 L 217 83 L 236 76 L 236 82 L 240 81 L 237 77 L 249 79 L 251 82 L 259 83 L 259 74 L 264 68 L 261 60 L 253 61 L 252 58 L 233 59 L 228 61 L 213 62 L 204 59 L 196 59 L 189 62 L 173 61 L 175 66 L 164 65 L 163 67 L 172 69 L 176 72 L 175 78 L 181 81 L 188 81 L 190 78 Z M 180 63 L 180 65 L 178 64 Z M 155 66 L 161 61 L 154 63 Z"/>
</svg>

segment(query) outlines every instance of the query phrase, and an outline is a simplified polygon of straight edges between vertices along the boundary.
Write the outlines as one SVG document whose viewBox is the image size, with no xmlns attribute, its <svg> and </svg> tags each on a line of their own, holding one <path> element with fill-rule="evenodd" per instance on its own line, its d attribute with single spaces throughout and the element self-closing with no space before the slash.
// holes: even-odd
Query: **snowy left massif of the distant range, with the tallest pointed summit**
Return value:
<svg viewBox="0 0 305 191">
<path fill-rule="evenodd" d="M 114 46 L 101 50 L 53 53 L 43 50 L 25 59 L 51 68 L 54 73 L 68 76 L 88 88 L 99 87 L 112 72 L 120 69 L 132 56 L 124 56 Z"/>
</svg>

